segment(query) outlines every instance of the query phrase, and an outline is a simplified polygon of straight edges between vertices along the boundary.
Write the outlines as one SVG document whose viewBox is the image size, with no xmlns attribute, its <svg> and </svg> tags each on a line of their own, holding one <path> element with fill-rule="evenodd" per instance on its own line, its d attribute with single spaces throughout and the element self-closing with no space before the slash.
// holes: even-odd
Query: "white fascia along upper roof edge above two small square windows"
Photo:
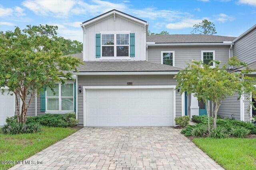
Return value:
<svg viewBox="0 0 256 170">
<path fill-rule="evenodd" d="M 234 43 L 146 43 L 148 46 L 234 45 Z"/>
</svg>

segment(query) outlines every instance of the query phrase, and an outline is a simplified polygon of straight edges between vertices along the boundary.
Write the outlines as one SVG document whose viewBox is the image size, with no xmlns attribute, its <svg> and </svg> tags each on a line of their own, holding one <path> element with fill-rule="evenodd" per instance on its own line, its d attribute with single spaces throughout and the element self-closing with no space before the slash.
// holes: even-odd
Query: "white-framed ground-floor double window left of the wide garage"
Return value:
<svg viewBox="0 0 256 170">
<path fill-rule="evenodd" d="M 46 89 L 46 111 L 74 111 L 74 83 L 56 83 L 55 95 Z"/>
</svg>

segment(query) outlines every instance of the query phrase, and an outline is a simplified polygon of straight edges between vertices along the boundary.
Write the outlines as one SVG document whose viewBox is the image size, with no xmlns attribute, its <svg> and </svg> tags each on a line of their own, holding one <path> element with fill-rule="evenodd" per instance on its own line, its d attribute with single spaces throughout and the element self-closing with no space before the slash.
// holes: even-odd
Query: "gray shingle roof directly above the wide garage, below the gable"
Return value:
<svg viewBox="0 0 256 170">
<path fill-rule="evenodd" d="M 178 67 L 148 61 L 86 61 L 79 72 L 179 71 Z"/>
</svg>

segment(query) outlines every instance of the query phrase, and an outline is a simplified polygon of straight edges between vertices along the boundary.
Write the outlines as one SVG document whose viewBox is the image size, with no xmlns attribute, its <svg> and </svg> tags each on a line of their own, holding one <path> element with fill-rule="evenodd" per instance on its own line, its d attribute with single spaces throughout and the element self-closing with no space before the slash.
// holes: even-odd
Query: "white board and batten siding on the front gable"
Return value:
<svg viewBox="0 0 256 170">
<path fill-rule="evenodd" d="M 85 61 L 100 61 L 101 58 L 96 58 L 96 34 L 100 32 L 109 32 L 109 34 L 123 32 L 135 33 L 135 57 L 130 57 L 131 61 L 145 60 L 145 46 L 146 46 L 146 26 L 133 22 L 132 20 L 116 16 L 109 16 L 95 24 L 86 26 L 85 28 Z M 81 31 L 82 32 L 82 31 Z M 102 49 L 101 49 L 102 50 Z M 122 57 L 120 57 L 121 59 Z M 113 59 L 117 59 L 116 57 Z"/>
</svg>

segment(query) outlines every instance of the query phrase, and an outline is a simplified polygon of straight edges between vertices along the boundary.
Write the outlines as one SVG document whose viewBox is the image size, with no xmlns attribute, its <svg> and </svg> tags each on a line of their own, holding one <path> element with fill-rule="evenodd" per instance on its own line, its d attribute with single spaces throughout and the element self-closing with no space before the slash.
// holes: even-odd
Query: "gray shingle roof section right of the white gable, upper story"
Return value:
<svg viewBox="0 0 256 170">
<path fill-rule="evenodd" d="M 217 43 L 232 41 L 236 37 L 214 36 L 204 34 L 172 34 L 147 36 L 147 42 L 155 43 Z"/>
</svg>

